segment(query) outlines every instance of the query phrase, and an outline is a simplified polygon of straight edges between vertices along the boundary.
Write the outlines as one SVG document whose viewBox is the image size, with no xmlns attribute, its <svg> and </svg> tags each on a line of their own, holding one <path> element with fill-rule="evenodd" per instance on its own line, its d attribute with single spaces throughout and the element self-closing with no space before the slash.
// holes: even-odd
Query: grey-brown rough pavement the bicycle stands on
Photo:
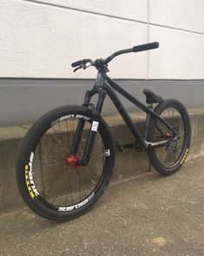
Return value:
<svg viewBox="0 0 204 256">
<path fill-rule="evenodd" d="M 203 163 L 190 160 L 169 177 L 144 170 L 115 180 L 69 222 L 26 207 L 1 215 L 0 255 L 204 255 Z"/>
</svg>

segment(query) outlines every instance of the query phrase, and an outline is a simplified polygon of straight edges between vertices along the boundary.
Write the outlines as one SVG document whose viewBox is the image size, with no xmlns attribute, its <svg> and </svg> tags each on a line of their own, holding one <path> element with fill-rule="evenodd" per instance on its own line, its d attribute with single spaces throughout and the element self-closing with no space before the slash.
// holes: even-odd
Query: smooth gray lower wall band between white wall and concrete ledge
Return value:
<svg viewBox="0 0 204 256">
<path fill-rule="evenodd" d="M 163 98 L 177 98 L 188 108 L 204 105 L 204 80 L 118 80 L 124 89 L 145 102 L 146 87 Z M 0 126 L 33 123 L 43 113 L 64 104 L 82 104 L 94 80 L 0 79 Z M 138 111 L 122 99 L 128 111 Z M 104 115 L 115 114 L 106 99 Z"/>
</svg>

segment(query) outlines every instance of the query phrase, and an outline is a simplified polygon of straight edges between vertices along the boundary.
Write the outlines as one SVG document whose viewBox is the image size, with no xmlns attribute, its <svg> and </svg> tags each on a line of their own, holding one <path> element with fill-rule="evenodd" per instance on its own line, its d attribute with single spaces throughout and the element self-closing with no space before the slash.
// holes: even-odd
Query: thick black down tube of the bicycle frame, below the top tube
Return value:
<svg viewBox="0 0 204 256">
<path fill-rule="evenodd" d="M 115 104 L 116 109 L 120 112 L 123 120 L 128 125 L 128 128 L 132 132 L 135 139 L 138 139 L 140 144 L 146 147 L 144 138 L 141 137 L 140 131 L 138 130 L 136 125 L 133 123 L 132 119 L 129 117 L 128 112 L 123 107 L 120 99 L 115 94 L 115 91 L 111 90 L 108 84 L 104 84 L 103 89 L 105 89 L 105 91 L 108 93 L 109 98 L 111 98 L 112 102 Z"/>
</svg>

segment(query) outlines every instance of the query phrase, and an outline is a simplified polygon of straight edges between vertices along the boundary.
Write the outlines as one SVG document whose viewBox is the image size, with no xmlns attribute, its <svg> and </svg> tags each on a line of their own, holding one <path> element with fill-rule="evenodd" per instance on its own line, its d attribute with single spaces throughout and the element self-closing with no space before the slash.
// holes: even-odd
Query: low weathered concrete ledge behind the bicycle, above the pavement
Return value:
<svg viewBox="0 0 204 256">
<path fill-rule="evenodd" d="M 204 107 L 188 110 L 192 126 L 192 144 L 188 160 L 204 154 Z M 139 122 L 142 129 L 145 116 L 141 113 L 131 117 Z M 120 143 L 128 143 L 133 136 L 128 131 L 120 116 L 105 118 L 113 137 Z M 10 212 L 22 207 L 23 202 L 16 188 L 16 154 L 21 140 L 30 125 L 0 128 L 0 213 Z M 148 172 L 148 158 L 146 152 L 135 153 L 127 150 L 116 153 L 115 172 L 112 184 L 118 180 L 129 179 L 141 172 Z M 111 185 L 111 184 L 110 184 Z"/>
</svg>

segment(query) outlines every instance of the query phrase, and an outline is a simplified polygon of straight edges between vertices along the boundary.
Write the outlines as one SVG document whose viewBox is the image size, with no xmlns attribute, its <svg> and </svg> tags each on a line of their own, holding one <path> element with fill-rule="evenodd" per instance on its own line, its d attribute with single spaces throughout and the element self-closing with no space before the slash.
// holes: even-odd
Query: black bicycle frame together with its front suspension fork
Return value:
<svg viewBox="0 0 204 256">
<path fill-rule="evenodd" d="M 144 138 L 141 136 L 141 132 L 137 128 L 137 125 L 134 124 L 132 118 L 130 118 L 130 116 L 128 115 L 128 112 L 125 110 L 121 100 L 117 97 L 115 91 L 121 94 L 124 98 L 127 98 L 132 104 L 135 104 L 136 106 L 138 106 L 142 111 L 146 112 L 147 118 L 146 118 Z M 97 101 L 96 107 L 94 106 L 94 104 L 90 104 L 90 100 L 95 94 L 98 94 L 98 101 Z M 149 131 L 148 129 L 149 129 L 151 118 L 159 118 L 162 124 L 168 126 L 168 129 L 172 131 L 174 136 L 178 136 L 177 131 L 175 131 L 173 127 L 168 125 L 168 123 L 165 120 L 163 120 L 159 115 L 157 115 L 145 104 L 142 104 L 139 100 L 137 100 L 132 95 L 130 95 L 128 91 L 125 91 L 124 89 L 122 89 L 122 87 L 119 84 L 116 84 L 113 79 L 111 79 L 106 75 L 106 72 L 98 71 L 95 84 L 91 91 L 86 92 L 85 99 L 84 99 L 83 105 L 89 106 L 91 108 L 94 121 L 89 131 L 89 138 L 85 146 L 83 158 L 82 160 L 78 161 L 77 165 L 87 165 L 89 163 L 90 152 L 95 140 L 95 133 L 96 133 L 95 131 L 97 131 L 97 125 L 99 125 L 100 114 L 102 112 L 102 105 L 107 94 L 109 98 L 112 100 L 113 104 L 115 104 L 117 111 L 119 111 L 119 113 L 121 114 L 124 122 L 128 126 L 129 131 L 131 131 L 135 140 L 139 143 L 139 145 L 141 145 L 142 148 L 148 149 L 148 147 L 150 146 L 165 145 L 169 140 L 169 139 L 166 139 L 166 140 L 163 140 L 160 142 L 154 142 L 154 143 L 148 142 L 148 131 Z M 93 124 L 95 124 L 96 126 L 94 127 Z M 79 120 L 76 128 L 75 138 L 70 150 L 70 155 L 75 155 L 77 152 L 78 145 L 80 143 L 80 138 L 82 137 L 83 125 L 84 125 L 84 121 Z"/>
</svg>

